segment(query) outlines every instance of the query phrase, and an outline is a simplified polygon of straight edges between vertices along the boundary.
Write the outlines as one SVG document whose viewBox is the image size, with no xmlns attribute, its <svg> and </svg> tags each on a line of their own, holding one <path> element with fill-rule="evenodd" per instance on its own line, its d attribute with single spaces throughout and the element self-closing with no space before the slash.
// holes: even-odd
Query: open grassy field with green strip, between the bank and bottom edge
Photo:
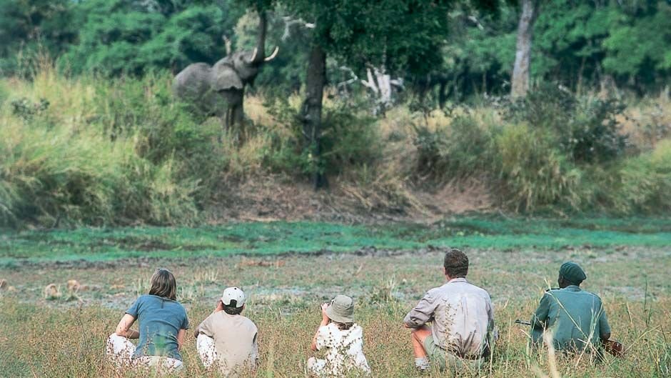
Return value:
<svg viewBox="0 0 671 378">
<path fill-rule="evenodd" d="M 0 234 L 0 279 L 6 280 L 0 377 L 115 377 L 105 362 L 105 339 L 147 292 L 159 266 L 176 275 L 192 327 L 224 287 L 246 290 L 246 315 L 260 329 L 258 377 L 305 376 L 318 305 L 335 294 L 356 300 L 373 377 L 415 377 L 401 322 L 426 290 L 443 284 L 438 248 L 448 246 L 469 255 L 468 279 L 490 292 L 500 332 L 487 369 L 466 377 L 557 377 L 545 351 L 527 351 L 528 329 L 514 321 L 530 318 L 568 259 L 585 268 L 583 287 L 603 299 L 612 335 L 627 349 L 624 359 L 609 355 L 597 365 L 560 358 L 556 373 L 671 376 L 671 220 L 470 217 L 432 225 L 255 223 Z M 69 279 L 81 289 L 69 291 Z M 48 284 L 60 295 L 46 298 Z M 201 367 L 195 344 L 188 337 L 183 376 L 217 377 Z"/>
</svg>

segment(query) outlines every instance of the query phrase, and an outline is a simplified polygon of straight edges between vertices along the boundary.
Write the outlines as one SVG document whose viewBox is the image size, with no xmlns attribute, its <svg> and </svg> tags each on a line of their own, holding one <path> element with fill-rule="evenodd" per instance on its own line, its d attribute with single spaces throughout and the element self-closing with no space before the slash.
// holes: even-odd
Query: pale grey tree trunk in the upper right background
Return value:
<svg viewBox="0 0 671 378">
<path fill-rule="evenodd" d="M 533 24 L 538 16 L 538 0 L 522 0 L 522 14 L 518 25 L 518 44 L 515 51 L 515 66 L 510 88 L 513 98 L 524 97 L 529 90 L 531 66 L 531 40 Z"/>
</svg>

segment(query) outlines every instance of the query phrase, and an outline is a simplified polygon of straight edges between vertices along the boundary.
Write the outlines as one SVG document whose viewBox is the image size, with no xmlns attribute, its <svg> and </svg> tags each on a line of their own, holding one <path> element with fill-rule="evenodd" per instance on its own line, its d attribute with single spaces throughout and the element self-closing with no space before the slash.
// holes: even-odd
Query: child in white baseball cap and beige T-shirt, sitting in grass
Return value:
<svg viewBox="0 0 671 378">
<path fill-rule="evenodd" d="M 226 376 L 256 369 L 258 329 L 241 315 L 246 302 L 239 287 L 228 287 L 214 312 L 196 328 L 196 347 L 206 368 L 218 366 Z"/>
</svg>

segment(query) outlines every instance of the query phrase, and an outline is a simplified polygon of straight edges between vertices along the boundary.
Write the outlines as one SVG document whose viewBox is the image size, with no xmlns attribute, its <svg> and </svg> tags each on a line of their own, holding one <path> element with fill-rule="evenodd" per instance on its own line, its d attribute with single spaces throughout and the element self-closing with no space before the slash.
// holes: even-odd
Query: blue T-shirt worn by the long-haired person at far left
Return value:
<svg viewBox="0 0 671 378">
<path fill-rule="evenodd" d="M 133 358 L 166 356 L 181 361 L 177 333 L 180 329 L 188 329 L 188 319 L 179 302 L 146 294 L 139 297 L 126 314 L 137 319 L 140 332 Z"/>
</svg>

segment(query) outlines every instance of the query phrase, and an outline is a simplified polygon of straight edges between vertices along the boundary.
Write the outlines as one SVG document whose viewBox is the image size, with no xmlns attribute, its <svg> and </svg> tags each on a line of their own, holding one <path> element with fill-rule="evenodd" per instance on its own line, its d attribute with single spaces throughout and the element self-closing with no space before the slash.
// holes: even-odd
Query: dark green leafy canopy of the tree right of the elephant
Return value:
<svg viewBox="0 0 671 378">
<path fill-rule="evenodd" d="M 392 72 L 426 74 L 440 64 L 447 1 L 286 1 L 316 24 L 313 43 L 358 73 L 365 64 Z M 403 20 L 403 22 L 400 22 Z"/>
</svg>

